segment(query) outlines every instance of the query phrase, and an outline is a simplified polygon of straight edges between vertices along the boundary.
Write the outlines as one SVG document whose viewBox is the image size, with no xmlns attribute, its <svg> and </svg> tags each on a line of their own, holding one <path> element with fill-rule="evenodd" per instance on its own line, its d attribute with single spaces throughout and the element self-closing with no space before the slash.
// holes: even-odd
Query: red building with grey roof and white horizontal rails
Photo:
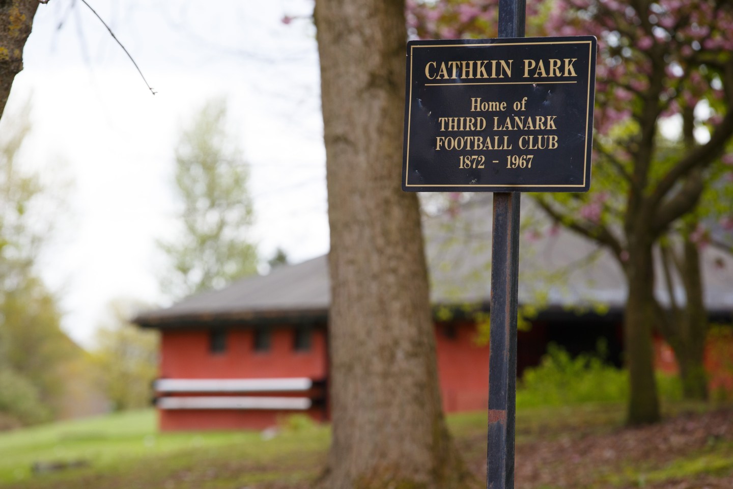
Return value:
<svg viewBox="0 0 733 489">
<path fill-rule="evenodd" d="M 487 205 L 482 199 L 425 223 L 447 412 L 487 406 L 489 350 L 476 341 L 475 315 L 487 311 L 489 298 Z M 465 238 L 469 225 L 471 235 L 480 237 L 476 242 Z M 455 235 L 462 237 L 460 244 Z M 531 328 L 519 333 L 517 374 L 536 365 L 550 342 L 581 353 L 595 350 L 604 338 L 610 360 L 620 365 L 624 282 L 608 256 L 589 260 L 596 253 L 592 243 L 568 232 L 545 229 L 523 239 L 520 303 L 536 302 L 538 292 L 544 300 Z M 704 262 L 711 315 L 729 323 L 733 260 L 709 250 Z M 547 278 L 563 268 L 562 283 Z M 324 256 L 137 317 L 140 326 L 161 331 L 156 382 L 161 430 L 261 429 L 290 413 L 328 419 L 329 287 Z M 663 348 L 659 343 L 659 352 Z M 663 352 L 658 358 L 667 359 Z"/>
</svg>

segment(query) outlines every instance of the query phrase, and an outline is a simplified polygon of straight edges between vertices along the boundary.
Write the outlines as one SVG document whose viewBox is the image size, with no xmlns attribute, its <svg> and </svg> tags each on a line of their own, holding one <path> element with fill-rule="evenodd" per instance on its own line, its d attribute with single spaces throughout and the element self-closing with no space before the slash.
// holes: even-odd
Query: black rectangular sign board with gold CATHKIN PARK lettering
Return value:
<svg viewBox="0 0 733 489">
<path fill-rule="evenodd" d="M 403 190 L 589 189 L 595 37 L 407 49 Z"/>
</svg>

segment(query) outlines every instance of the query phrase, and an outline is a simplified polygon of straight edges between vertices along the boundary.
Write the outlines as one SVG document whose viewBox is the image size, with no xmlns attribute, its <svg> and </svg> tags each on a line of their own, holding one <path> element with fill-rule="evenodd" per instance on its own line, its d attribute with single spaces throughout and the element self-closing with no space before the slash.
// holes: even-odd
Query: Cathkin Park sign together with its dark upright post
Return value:
<svg viewBox="0 0 733 489">
<path fill-rule="evenodd" d="M 498 39 L 410 41 L 404 191 L 494 192 L 487 489 L 514 488 L 520 192 L 590 188 L 596 39 L 524 38 L 526 0 L 499 0 Z"/>
</svg>

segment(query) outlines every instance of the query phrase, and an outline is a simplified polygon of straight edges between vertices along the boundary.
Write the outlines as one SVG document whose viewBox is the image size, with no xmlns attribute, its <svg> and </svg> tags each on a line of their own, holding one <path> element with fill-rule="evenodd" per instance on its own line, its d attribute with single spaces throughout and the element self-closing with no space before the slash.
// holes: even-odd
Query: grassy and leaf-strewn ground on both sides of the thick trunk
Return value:
<svg viewBox="0 0 733 489">
<path fill-rule="evenodd" d="M 671 488 L 665 484 L 713 477 L 723 481 L 720 487 L 733 487 L 725 485 L 733 477 L 733 422 L 726 422 L 733 411 L 676 403 L 667 408 L 668 422 L 636 430 L 622 427 L 624 411 L 619 404 L 518 411 L 517 484 Z M 485 413 L 449 417 L 459 449 L 479 478 L 485 470 L 485 423 Z M 0 433 L 0 487 L 301 489 L 317 477 L 328 449 L 328 427 L 309 423 L 286 424 L 274 437 L 158 433 L 155 424 L 154 411 L 136 411 Z M 32 471 L 34 463 L 58 462 L 84 466 Z"/>
</svg>

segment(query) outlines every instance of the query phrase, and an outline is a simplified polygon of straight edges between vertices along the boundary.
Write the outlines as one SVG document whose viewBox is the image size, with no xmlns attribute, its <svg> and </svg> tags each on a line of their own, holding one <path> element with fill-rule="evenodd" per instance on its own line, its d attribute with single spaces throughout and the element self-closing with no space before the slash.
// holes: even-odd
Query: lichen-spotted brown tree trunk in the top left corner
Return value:
<svg viewBox="0 0 733 489">
<path fill-rule="evenodd" d="M 38 0 L 0 0 L 0 117 L 12 81 L 23 70 L 23 46 L 37 8 Z"/>
</svg>

